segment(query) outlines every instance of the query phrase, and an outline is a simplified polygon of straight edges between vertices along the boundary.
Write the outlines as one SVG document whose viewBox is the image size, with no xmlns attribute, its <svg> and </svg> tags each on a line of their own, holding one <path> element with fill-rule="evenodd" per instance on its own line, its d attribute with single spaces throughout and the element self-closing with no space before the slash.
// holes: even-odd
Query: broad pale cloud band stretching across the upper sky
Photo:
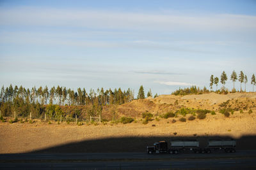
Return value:
<svg viewBox="0 0 256 170">
<path fill-rule="evenodd" d="M 156 15 L 99 10 L 62 10 L 21 7 L 0 10 L 1 25 L 101 27 L 109 29 L 255 29 L 256 17 L 248 15 Z"/>
</svg>

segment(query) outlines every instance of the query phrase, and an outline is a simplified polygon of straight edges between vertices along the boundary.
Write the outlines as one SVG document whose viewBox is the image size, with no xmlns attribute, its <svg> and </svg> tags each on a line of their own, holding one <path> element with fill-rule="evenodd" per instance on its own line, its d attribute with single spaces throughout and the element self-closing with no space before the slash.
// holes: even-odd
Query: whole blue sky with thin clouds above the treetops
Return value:
<svg viewBox="0 0 256 170">
<path fill-rule="evenodd" d="M 253 0 L 0 0 L 0 85 L 121 87 L 136 97 L 140 85 L 209 89 L 223 71 L 232 89 L 235 70 L 252 90 L 255 9 Z"/>
</svg>

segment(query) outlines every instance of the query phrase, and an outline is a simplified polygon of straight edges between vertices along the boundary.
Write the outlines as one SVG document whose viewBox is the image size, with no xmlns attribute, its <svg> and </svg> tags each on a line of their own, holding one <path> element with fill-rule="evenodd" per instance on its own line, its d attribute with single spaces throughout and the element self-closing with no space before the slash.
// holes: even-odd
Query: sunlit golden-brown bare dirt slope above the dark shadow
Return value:
<svg viewBox="0 0 256 170">
<path fill-rule="evenodd" d="M 0 153 L 24 153 L 42 150 L 66 143 L 76 143 L 86 140 L 97 140 L 104 138 L 122 138 L 125 136 L 156 137 L 168 136 L 230 136 L 241 138 L 241 136 L 256 136 L 256 102 L 255 93 L 236 93 L 228 95 L 202 94 L 191 96 L 159 96 L 156 99 L 148 98 L 131 103 L 123 104 L 118 111 L 124 110 L 122 115 L 134 115 L 136 123 L 131 124 L 67 124 L 62 122 L 57 124 L 47 124 L 41 120 L 35 123 L 10 124 L 0 123 Z M 177 118 L 159 118 L 146 125 L 142 124 L 140 115 L 142 111 L 148 110 L 156 116 L 164 111 L 173 110 L 180 106 L 190 108 L 207 108 L 218 110 L 219 104 L 229 100 L 228 107 L 236 108 L 238 105 L 244 109 L 243 113 L 235 111 L 230 117 L 225 117 L 221 113 L 216 115 L 207 114 L 204 120 L 187 120 L 180 122 Z M 178 104 L 177 104 L 178 103 Z M 249 114 L 251 109 L 253 113 Z M 130 113 L 127 111 L 129 110 Z M 132 112 L 134 111 L 134 112 Z M 189 115 L 186 116 L 187 118 Z M 155 118 L 155 117 L 154 117 Z M 175 119 L 177 122 L 172 123 Z M 152 126 L 153 125 L 153 126 Z M 143 146 L 144 147 L 144 146 Z"/>
</svg>

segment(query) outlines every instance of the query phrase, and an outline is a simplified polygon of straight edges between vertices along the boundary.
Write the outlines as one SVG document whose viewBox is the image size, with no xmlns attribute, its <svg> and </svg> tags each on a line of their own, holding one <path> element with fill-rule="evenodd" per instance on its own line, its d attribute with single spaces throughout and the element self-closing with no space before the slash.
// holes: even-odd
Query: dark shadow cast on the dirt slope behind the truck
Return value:
<svg viewBox="0 0 256 170">
<path fill-rule="evenodd" d="M 65 145 L 52 146 L 42 150 L 35 150 L 29 153 L 107 153 L 107 152 L 146 152 L 147 146 L 161 140 L 172 139 L 197 139 L 200 147 L 207 145 L 208 139 L 231 139 L 229 136 L 152 136 L 135 137 L 127 136 L 122 138 L 102 138 L 84 140 Z M 256 150 L 256 136 L 243 136 L 236 139 L 237 150 Z"/>
</svg>

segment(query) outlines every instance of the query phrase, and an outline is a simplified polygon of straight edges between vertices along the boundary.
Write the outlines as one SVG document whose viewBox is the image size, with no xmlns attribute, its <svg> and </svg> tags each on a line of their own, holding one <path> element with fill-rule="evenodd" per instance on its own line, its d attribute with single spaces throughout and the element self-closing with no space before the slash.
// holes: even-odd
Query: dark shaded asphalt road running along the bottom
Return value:
<svg viewBox="0 0 256 170">
<path fill-rule="evenodd" d="M 0 154 L 0 169 L 256 169 L 256 150 L 236 153 Z"/>
</svg>

